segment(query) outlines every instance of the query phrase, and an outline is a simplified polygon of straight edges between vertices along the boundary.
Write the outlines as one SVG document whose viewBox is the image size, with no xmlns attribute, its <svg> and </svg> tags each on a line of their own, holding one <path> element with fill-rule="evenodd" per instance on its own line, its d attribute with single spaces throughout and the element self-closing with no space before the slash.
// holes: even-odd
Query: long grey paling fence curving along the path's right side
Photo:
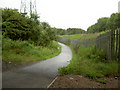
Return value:
<svg viewBox="0 0 120 90">
<path fill-rule="evenodd" d="M 120 29 L 111 30 L 98 36 L 96 39 L 84 42 L 68 38 L 59 38 L 58 40 L 71 44 L 74 47 L 77 45 L 84 45 L 86 47 L 96 45 L 98 49 L 102 49 L 105 52 L 107 60 L 120 60 Z"/>
</svg>

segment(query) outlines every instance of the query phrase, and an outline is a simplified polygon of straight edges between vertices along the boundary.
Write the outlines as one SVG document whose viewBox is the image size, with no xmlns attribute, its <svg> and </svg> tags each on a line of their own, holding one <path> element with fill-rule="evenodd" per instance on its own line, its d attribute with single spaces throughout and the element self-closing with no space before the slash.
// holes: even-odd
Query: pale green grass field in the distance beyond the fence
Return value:
<svg viewBox="0 0 120 90">
<path fill-rule="evenodd" d="M 100 32 L 100 33 L 61 35 L 60 37 L 75 39 L 75 40 L 80 40 L 80 41 L 87 41 L 87 40 L 95 39 L 99 35 L 104 34 L 106 32 L 104 31 L 104 32 Z"/>
</svg>

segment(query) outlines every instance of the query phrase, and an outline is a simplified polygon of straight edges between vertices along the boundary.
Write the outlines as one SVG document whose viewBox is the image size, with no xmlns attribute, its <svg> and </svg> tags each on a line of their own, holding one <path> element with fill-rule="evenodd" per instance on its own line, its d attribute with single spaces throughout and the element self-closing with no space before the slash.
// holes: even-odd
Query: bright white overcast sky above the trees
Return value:
<svg viewBox="0 0 120 90">
<path fill-rule="evenodd" d="M 24 0 L 23 0 L 24 1 Z M 29 0 L 27 0 L 29 2 Z M 33 0 L 34 1 L 34 0 Z M 118 12 L 120 0 L 36 0 L 40 21 L 56 28 L 87 28 Z M 1 8 L 20 9 L 21 0 L 0 0 Z"/>
</svg>

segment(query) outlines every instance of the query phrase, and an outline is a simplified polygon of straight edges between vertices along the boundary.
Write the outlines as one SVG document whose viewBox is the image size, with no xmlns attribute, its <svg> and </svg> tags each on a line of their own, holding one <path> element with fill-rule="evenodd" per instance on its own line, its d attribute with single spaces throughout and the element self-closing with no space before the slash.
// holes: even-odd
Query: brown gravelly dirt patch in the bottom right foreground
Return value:
<svg viewBox="0 0 120 90">
<path fill-rule="evenodd" d="M 58 76 L 49 88 L 120 88 L 118 77 L 106 77 L 106 82 L 100 83 L 81 75 Z"/>
</svg>

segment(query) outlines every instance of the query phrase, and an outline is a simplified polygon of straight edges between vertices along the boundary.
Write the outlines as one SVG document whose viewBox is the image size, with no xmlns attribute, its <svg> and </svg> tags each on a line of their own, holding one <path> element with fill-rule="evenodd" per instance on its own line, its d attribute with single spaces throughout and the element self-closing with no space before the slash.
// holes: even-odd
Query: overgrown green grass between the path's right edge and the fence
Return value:
<svg viewBox="0 0 120 90">
<path fill-rule="evenodd" d="M 118 72 L 120 63 L 114 60 L 106 62 L 103 51 L 97 50 L 95 46 L 89 48 L 84 46 L 72 47 L 72 51 L 73 58 L 70 64 L 59 69 L 61 75 L 81 74 L 91 79 L 120 76 L 120 72 Z"/>
</svg>

